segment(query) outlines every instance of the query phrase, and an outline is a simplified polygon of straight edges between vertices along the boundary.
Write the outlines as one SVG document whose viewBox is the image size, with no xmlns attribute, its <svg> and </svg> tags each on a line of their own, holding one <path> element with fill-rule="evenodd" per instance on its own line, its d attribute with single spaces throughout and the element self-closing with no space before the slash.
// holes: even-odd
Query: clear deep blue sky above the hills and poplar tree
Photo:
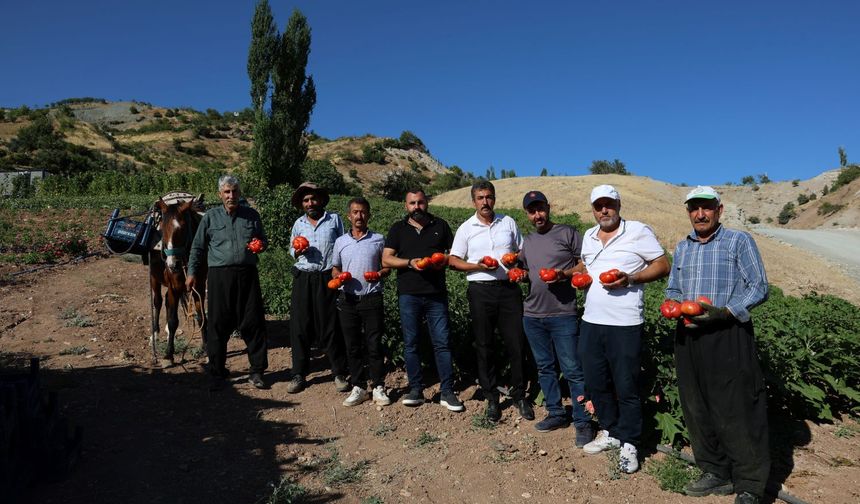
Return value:
<svg viewBox="0 0 860 504">
<path fill-rule="evenodd" d="M 271 0 L 312 28 L 311 129 L 411 130 L 476 174 L 719 184 L 860 161 L 860 2 Z M 0 106 L 135 99 L 237 110 L 253 0 L 3 2 Z"/>
</svg>

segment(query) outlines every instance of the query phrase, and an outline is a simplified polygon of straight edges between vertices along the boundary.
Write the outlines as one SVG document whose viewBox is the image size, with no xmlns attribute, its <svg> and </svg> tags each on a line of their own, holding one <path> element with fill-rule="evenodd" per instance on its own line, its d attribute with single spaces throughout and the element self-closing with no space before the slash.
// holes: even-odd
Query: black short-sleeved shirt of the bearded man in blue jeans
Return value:
<svg viewBox="0 0 860 504">
<path fill-rule="evenodd" d="M 397 221 L 388 231 L 385 248 L 394 249 L 397 257 L 413 259 L 430 257 L 434 252 L 448 253 L 454 242 L 454 233 L 444 220 L 430 215 L 430 221 L 418 232 L 409 224 L 409 217 Z M 445 270 L 397 270 L 397 293 L 428 295 L 447 293 Z"/>
</svg>

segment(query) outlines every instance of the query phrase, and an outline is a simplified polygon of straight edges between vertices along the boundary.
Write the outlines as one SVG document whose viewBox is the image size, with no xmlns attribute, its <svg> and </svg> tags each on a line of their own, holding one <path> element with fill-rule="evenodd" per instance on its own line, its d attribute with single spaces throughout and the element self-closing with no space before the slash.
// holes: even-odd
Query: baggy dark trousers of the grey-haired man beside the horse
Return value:
<svg viewBox="0 0 860 504">
<path fill-rule="evenodd" d="M 269 366 L 266 355 L 266 319 L 260 277 L 256 266 L 209 268 L 209 320 L 206 353 L 209 372 L 224 376 L 227 341 L 235 329 L 242 333 L 248 348 L 251 373 Z"/>
</svg>

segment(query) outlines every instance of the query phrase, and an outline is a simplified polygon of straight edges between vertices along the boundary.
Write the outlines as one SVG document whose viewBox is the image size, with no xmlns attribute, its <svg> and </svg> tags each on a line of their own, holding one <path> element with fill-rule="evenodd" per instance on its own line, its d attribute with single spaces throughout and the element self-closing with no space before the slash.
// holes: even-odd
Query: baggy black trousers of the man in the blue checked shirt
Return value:
<svg viewBox="0 0 860 504">
<path fill-rule="evenodd" d="M 675 366 L 698 466 L 759 497 L 770 472 L 764 376 L 752 323 L 680 327 Z"/>
</svg>

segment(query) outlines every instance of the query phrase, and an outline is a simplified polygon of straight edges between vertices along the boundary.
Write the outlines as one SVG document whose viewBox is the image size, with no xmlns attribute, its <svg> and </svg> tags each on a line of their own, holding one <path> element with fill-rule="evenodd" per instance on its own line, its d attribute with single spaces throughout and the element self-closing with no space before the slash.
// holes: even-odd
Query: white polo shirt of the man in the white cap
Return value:
<svg viewBox="0 0 860 504">
<path fill-rule="evenodd" d="M 639 325 L 645 322 L 645 285 L 609 290 L 600 284 L 598 277 L 613 268 L 627 274 L 638 273 L 666 252 L 654 231 L 641 222 L 621 219 L 618 232 L 606 245 L 597 237 L 599 229 L 600 226 L 594 226 L 582 239 L 582 262 L 594 279 L 585 295 L 582 320 L 611 326 Z"/>
</svg>

